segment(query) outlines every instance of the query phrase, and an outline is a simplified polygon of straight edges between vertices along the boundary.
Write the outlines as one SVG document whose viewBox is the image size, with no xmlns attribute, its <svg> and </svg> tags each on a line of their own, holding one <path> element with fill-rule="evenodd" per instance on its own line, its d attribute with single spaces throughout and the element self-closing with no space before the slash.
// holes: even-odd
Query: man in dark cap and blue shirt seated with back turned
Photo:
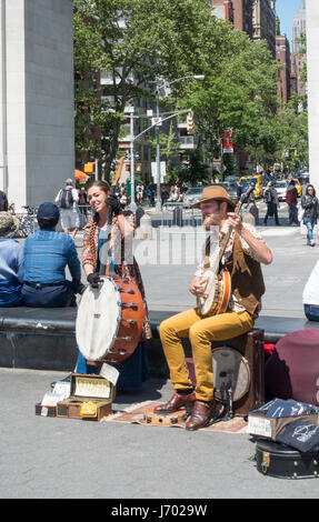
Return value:
<svg viewBox="0 0 319 522">
<path fill-rule="evenodd" d="M 76 307 L 76 293 L 83 288 L 74 242 L 56 232 L 59 217 L 56 204 L 40 204 L 37 215 L 40 229 L 26 239 L 22 295 L 27 307 Z M 72 282 L 66 279 L 67 267 Z"/>
</svg>

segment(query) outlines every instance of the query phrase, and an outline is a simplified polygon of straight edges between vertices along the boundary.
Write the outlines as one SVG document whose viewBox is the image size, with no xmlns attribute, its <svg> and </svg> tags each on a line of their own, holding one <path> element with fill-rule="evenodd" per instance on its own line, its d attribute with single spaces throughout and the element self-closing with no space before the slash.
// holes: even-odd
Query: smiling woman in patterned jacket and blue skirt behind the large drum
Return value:
<svg viewBox="0 0 319 522">
<path fill-rule="evenodd" d="M 121 209 L 116 195 L 110 194 L 110 185 L 94 181 L 88 189 L 88 202 L 94 217 L 84 227 L 82 267 L 92 288 L 98 288 L 101 274 L 134 281 L 143 300 L 144 319 L 142 340 L 151 338 L 143 283 L 137 261 L 132 255 L 134 218 L 131 211 Z M 111 209 L 111 223 L 110 221 Z M 79 353 L 77 372 L 98 373 L 100 363 L 90 363 Z M 140 388 L 146 380 L 147 361 L 144 345 L 140 342 L 129 359 L 117 365 L 120 372 L 118 389 Z"/>
</svg>

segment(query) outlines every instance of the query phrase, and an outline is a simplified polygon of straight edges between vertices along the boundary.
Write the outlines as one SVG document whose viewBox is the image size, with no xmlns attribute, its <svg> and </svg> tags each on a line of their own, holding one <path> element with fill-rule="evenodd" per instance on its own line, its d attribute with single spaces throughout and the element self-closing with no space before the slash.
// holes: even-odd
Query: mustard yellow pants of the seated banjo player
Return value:
<svg viewBox="0 0 319 522">
<path fill-rule="evenodd" d="M 196 398 L 210 401 L 213 396 L 211 342 L 225 341 L 249 332 L 253 319 L 248 312 L 221 313 L 202 319 L 196 309 L 167 319 L 159 332 L 176 390 L 192 388 L 181 339 L 189 338 L 196 372 Z"/>
</svg>

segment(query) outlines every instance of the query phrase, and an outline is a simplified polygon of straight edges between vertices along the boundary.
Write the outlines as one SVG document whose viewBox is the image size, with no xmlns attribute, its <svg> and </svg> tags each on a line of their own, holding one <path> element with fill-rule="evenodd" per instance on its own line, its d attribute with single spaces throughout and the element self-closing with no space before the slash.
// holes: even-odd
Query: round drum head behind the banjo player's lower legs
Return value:
<svg viewBox="0 0 319 522">
<path fill-rule="evenodd" d="M 250 369 L 248 361 L 229 347 L 212 350 L 213 388 L 218 399 L 222 399 L 222 389 L 228 384 L 232 389 L 232 400 L 239 401 L 250 385 Z"/>
</svg>

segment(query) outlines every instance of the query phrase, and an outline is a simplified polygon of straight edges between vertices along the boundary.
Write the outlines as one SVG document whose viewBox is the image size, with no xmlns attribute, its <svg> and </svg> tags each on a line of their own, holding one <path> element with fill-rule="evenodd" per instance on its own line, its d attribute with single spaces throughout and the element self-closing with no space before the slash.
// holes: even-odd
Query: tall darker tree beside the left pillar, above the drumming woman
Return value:
<svg viewBox="0 0 319 522">
<path fill-rule="evenodd" d="M 98 150 L 107 177 L 126 106 L 158 76 L 198 72 L 213 23 L 206 0 L 74 0 L 77 149 Z"/>
</svg>

